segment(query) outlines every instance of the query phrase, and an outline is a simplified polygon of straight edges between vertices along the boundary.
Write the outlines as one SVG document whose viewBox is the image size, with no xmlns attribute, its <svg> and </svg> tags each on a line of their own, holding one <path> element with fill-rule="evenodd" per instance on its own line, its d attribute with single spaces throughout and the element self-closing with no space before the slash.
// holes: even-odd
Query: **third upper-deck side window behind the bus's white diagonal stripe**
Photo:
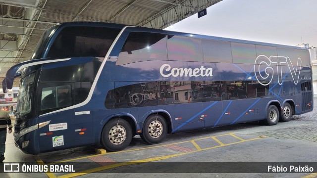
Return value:
<svg viewBox="0 0 317 178">
<path fill-rule="evenodd" d="M 232 63 L 230 42 L 202 39 L 205 62 Z"/>
</svg>

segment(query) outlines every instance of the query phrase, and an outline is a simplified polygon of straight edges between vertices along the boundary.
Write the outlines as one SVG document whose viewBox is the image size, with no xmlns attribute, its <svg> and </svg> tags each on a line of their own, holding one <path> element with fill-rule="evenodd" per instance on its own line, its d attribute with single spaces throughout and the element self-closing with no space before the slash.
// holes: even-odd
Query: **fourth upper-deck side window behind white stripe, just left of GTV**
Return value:
<svg viewBox="0 0 317 178">
<path fill-rule="evenodd" d="M 244 43 L 231 43 L 233 63 L 254 64 L 257 54 L 256 46 Z"/>
</svg>

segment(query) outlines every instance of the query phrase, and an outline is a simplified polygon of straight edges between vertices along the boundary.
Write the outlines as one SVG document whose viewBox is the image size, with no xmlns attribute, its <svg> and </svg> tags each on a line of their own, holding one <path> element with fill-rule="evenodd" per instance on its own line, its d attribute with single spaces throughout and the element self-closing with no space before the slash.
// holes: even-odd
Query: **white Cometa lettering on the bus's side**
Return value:
<svg viewBox="0 0 317 178">
<path fill-rule="evenodd" d="M 163 73 L 165 72 L 165 73 Z M 212 77 L 212 68 L 205 68 L 204 66 L 201 66 L 200 68 L 172 68 L 170 67 L 169 64 L 163 64 L 160 69 L 159 73 L 163 77 Z M 166 74 L 167 73 L 167 74 Z"/>
</svg>

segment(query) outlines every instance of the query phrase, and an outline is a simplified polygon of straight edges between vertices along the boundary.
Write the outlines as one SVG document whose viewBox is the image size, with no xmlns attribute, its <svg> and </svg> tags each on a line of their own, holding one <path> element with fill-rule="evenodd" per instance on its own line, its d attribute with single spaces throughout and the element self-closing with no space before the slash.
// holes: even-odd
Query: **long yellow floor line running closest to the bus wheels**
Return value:
<svg viewBox="0 0 317 178">
<path fill-rule="evenodd" d="M 234 133 L 230 133 L 230 134 L 234 134 Z M 229 134 L 221 134 L 221 135 L 216 135 L 216 136 L 208 136 L 208 137 L 198 138 L 198 139 L 193 139 L 193 140 L 196 141 L 196 140 L 201 140 L 201 139 L 206 139 L 206 138 L 212 138 L 212 137 L 217 137 L 217 136 L 224 136 L 224 135 L 229 135 Z M 74 158 L 74 159 L 68 159 L 68 160 L 62 160 L 62 161 L 56 161 L 55 163 L 50 163 L 50 164 L 47 164 L 47 165 L 52 165 L 52 164 L 56 164 L 56 163 L 70 162 L 70 161 L 75 161 L 75 160 L 80 160 L 80 159 L 85 159 L 85 158 L 91 158 L 91 157 L 100 156 L 100 155 L 106 155 L 106 154 L 117 154 L 117 153 L 131 152 L 131 151 L 139 151 L 139 150 L 144 150 L 144 149 L 159 148 L 159 147 L 168 146 L 168 145 L 174 145 L 174 144 L 180 144 L 180 143 L 188 143 L 188 142 L 191 142 L 191 141 L 192 141 L 192 140 L 181 141 L 181 142 L 177 142 L 177 143 L 169 143 L 169 144 L 165 144 L 165 145 L 145 147 L 145 148 L 136 148 L 136 149 L 123 150 L 123 151 L 108 152 L 108 153 L 97 154 L 97 155 L 90 155 L 90 156 L 84 156 L 84 157 L 80 157 L 80 158 Z M 219 141 L 219 140 L 218 140 L 218 141 Z M 222 144 L 223 144 L 223 143 L 222 143 Z"/>
</svg>

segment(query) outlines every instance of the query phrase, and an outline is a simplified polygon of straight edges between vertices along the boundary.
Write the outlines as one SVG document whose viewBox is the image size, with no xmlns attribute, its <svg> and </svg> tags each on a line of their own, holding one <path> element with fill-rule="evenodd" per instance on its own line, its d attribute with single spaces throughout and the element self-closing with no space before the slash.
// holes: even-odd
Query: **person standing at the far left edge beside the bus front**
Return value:
<svg viewBox="0 0 317 178">
<path fill-rule="evenodd" d="M 12 124 L 9 113 L 0 109 L 0 162 L 4 160 L 6 128 L 9 128 L 8 133 L 12 132 Z"/>
</svg>

